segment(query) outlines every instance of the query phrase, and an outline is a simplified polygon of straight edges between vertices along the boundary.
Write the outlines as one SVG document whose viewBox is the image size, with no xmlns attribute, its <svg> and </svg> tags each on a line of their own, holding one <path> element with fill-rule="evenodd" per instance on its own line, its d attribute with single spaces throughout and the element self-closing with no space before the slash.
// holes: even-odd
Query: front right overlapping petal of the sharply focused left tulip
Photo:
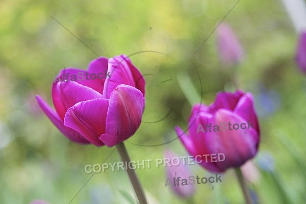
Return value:
<svg viewBox="0 0 306 204">
<path fill-rule="evenodd" d="M 144 100 L 142 93 L 134 87 L 116 87 L 110 96 L 106 134 L 99 139 L 111 147 L 131 137 L 141 123 Z"/>
</svg>

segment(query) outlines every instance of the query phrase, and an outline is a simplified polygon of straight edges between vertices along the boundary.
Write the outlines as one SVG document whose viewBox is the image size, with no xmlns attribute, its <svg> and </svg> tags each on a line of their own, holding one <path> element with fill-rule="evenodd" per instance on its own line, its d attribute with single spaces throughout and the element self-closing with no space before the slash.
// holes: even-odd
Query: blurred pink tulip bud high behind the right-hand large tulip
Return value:
<svg viewBox="0 0 306 204">
<path fill-rule="evenodd" d="M 236 34 L 227 23 L 221 23 L 217 30 L 217 50 L 223 64 L 239 64 L 244 58 L 244 50 Z"/>
</svg>

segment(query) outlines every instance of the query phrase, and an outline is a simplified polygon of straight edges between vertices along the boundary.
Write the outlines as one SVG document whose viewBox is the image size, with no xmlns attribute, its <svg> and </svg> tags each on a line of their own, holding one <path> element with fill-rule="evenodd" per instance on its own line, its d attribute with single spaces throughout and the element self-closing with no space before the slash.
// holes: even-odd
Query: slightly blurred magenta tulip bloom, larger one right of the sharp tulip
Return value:
<svg viewBox="0 0 306 204">
<path fill-rule="evenodd" d="M 194 105 L 188 133 L 179 126 L 175 130 L 189 153 L 201 156 L 198 163 L 215 172 L 241 166 L 257 154 L 260 142 L 253 96 L 242 91 L 219 92 L 208 107 Z M 215 154 L 224 154 L 225 158 Z"/>
</svg>

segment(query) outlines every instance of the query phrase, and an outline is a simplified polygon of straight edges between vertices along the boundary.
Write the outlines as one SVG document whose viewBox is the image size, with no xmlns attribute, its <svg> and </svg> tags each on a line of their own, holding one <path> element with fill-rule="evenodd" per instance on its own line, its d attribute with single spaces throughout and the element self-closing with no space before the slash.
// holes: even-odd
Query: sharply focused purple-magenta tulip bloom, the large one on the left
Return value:
<svg viewBox="0 0 306 204">
<path fill-rule="evenodd" d="M 70 80 L 65 77 L 67 74 Z M 36 99 L 47 117 L 71 141 L 111 147 L 138 129 L 144 111 L 144 89 L 140 71 L 121 55 L 93 60 L 87 71 L 61 70 L 52 86 L 55 111 L 40 96 Z"/>
</svg>

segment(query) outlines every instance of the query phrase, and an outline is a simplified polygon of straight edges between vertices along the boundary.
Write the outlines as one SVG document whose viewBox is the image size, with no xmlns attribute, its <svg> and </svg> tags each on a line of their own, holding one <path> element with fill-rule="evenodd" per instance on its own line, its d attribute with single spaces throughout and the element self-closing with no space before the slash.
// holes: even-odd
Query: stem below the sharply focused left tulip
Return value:
<svg viewBox="0 0 306 204">
<path fill-rule="evenodd" d="M 119 155 L 122 159 L 122 162 L 123 163 L 126 162 L 127 164 L 130 164 L 131 159 L 130 159 L 129 155 L 127 154 L 127 151 L 126 151 L 126 148 L 125 148 L 125 145 L 123 144 L 123 142 L 117 144 L 117 150 L 118 150 Z M 132 183 L 132 186 L 134 188 L 136 196 L 139 200 L 139 203 L 140 204 L 147 204 L 147 201 L 145 199 L 142 187 L 139 183 L 139 180 L 138 180 L 138 177 L 137 177 L 135 171 L 130 168 L 130 165 L 127 165 L 126 172 L 127 172 L 127 175 L 129 175 L 129 177 L 130 177 L 130 181 Z"/>
</svg>

